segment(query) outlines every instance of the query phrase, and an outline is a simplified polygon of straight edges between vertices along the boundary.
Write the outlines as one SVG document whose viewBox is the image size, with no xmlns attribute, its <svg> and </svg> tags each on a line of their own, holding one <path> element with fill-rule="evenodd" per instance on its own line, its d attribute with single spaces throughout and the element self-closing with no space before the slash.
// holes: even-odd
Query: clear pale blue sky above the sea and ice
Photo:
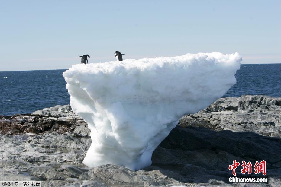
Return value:
<svg viewBox="0 0 281 187">
<path fill-rule="evenodd" d="M 281 63 L 281 1 L 1 1 L 0 71 L 238 52 Z"/>
</svg>

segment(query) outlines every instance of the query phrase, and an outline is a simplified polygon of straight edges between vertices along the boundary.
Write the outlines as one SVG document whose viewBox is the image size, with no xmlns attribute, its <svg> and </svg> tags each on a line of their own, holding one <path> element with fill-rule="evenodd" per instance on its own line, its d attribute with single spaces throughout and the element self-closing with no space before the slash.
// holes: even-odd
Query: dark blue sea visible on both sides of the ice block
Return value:
<svg viewBox="0 0 281 187">
<path fill-rule="evenodd" d="M 70 96 L 62 76 L 64 71 L 0 72 L 0 114 L 32 113 L 46 107 L 69 104 Z M 243 94 L 281 97 L 281 64 L 241 65 L 236 79 L 237 84 L 223 97 L 240 97 Z"/>
</svg>

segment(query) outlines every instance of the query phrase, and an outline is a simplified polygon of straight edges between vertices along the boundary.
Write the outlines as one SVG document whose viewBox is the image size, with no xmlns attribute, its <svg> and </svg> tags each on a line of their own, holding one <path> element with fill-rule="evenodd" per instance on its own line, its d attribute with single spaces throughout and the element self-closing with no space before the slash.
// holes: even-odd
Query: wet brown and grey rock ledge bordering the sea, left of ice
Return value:
<svg viewBox="0 0 281 187">
<path fill-rule="evenodd" d="M 66 133 L 73 132 L 77 125 L 86 122 L 73 114 L 70 105 L 45 108 L 35 111 L 32 116 L 15 114 L 0 119 L 0 131 L 7 135 L 19 133 L 42 133 L 47 131 Z"/>
</svg>

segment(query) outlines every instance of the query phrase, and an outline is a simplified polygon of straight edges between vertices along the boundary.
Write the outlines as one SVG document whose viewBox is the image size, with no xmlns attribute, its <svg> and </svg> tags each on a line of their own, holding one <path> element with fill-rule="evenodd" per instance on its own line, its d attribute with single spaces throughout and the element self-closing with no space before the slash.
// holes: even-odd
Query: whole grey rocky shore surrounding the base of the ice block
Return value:
<svg viewBox="0 0 281 187">
<path fill-rule="evenodd" d="M 85 166 L 89 136 L 87 123 L 70 105 L 0 115 L 0 181 L 43 181 L 43 186 L 281 186 L 281 98 L 220 98 L 183 116 L 154 151 L 152 166 L 139 171 L 113 164 Z M 229 183 L 228 166 L 234 159 L 265 160 L 268 182 Z M 246 176 L 241 166 L 236 172 Z"/>
</svg>

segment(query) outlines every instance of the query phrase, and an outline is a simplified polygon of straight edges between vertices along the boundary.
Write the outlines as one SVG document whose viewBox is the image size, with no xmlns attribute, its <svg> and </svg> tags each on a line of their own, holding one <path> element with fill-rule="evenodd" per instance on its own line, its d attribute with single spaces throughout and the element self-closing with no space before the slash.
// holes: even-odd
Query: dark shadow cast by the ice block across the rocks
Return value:
<svg viewBox="0 0 281 187">
<path fill-rule="evenodd" d="M 169 178 L 180 182 L 228 182 L 233 176 L 228 166 L 240 162 L 237 176 L 254 174 L 254 164 L 266 161 L 266 177 L 281 178 L 281 138 L 267 137 L 253 132 L 216 132 L 207 128 L 177 126 L 162 141 L 152 155 L 152 166 Z M 242 174 L 242 160 L 251 161 L 252 174 Z M 170 172 L 171 171 L 171 172 Z M 215 182 L 214 182 L 215 181 Z"/>
</svg>

